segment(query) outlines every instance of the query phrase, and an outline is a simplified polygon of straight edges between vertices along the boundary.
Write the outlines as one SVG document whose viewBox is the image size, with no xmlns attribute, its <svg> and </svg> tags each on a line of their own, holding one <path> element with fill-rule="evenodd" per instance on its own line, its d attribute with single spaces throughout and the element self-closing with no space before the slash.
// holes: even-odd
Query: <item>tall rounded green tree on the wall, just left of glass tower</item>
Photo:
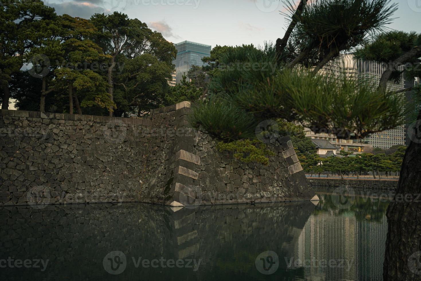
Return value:
<svg viewBox="0 0 421 281">
<path fill-rule="evenodd" d="M 91 21 L 99 30 L 95 42 L 110 56 L 108 93 L 115 100 L 117 115 L 134 107 L 138 112 L 158 107 L 169 90 L 174 45 L 123 13 L 95 14 Z M 110 116 L 113 110 L 110 107 Z"/>
</svg>

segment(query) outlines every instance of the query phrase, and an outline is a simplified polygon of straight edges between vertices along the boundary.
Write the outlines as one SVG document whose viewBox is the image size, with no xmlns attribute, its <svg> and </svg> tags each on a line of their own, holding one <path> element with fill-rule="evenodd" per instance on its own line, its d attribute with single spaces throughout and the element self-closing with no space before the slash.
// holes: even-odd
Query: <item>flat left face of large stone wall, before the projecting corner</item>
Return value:
<svg viewBox="0 0 421 281">
<path fill-rule="evenodd" d="M 150 120 L 1 113 L 0 204 L 140 200 Z"/>
</svg>

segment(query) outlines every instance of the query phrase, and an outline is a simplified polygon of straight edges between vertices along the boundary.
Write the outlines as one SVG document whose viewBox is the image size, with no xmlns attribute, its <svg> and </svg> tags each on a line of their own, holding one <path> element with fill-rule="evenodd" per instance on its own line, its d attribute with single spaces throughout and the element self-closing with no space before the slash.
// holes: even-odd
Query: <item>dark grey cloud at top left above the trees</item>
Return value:
<svg viewBox="0 0 421 281">
<path fill-rule="evenodd" d="M 58 15 L 67 13 L 70 16 L 78 16 L 84 19 L 89 19 L 94 13 L 109 13 L 103 7 L 93 4 L 99 0 L 88 0 L 83 2 L 63 2 L 50 3 L 49 6 L 56 9 Z M 101 1 L 102 2 L 102 1 Z"/>
</svg>

